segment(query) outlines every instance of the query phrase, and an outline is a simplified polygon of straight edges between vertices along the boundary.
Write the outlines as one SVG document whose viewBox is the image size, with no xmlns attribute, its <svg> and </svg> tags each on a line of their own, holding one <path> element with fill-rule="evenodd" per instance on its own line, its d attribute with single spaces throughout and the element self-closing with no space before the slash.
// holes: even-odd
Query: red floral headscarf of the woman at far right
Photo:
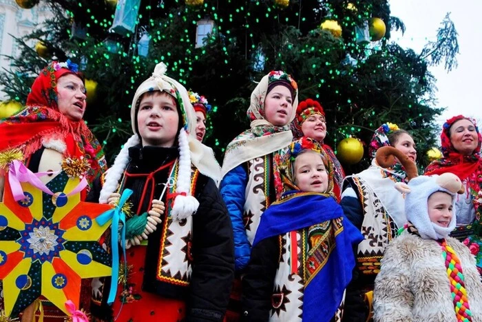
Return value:
<svg viewBox="0 0 482 322">
<path fill-rule="evenodd" d="M 474 152 L 470 155 L 463 155 L 455 150 L 454 145 L 450 141 L 450 127 L 456 121 L 461 119 L 467 119 L 474 124 L 479 139 L 479 144 L 475 148 Z M 445 172 L 452 172 L 456 174 L 461 181 L 467 181 L 469 189 L 468 192 L 472 194 L 474 201 L 474 208 L 479 209 L 479 191 L 482 191 L 482 159 L 481 159 L 481 144 L 482 136 L 477 127 L 476 121 L 463 115 L 457 115 L 448 119 L 443 124 L 441 133 L 442 154 L 443 158 L 440 160 L 432 161 L 425 170 L 425 174 L 442 174 Z M 480 215 L 478 214 L 478 218 Z"/>
</svg>

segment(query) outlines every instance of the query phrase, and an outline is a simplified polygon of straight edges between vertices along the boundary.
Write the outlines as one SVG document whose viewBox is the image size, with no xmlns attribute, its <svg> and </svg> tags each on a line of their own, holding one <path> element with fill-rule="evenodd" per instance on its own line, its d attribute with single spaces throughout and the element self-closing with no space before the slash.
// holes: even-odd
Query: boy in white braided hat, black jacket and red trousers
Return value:
<svg viewBox="0 0 482 322">
<path fill-rule="evenodd" d="M 92 314 L 111 321 L 222 321 L 233 281 L 233 232 L 215 181 L 220 167 L 196 140 L 187 90 L 158 64 L 136 91 L 134 135 L 89 199 L 114 203 L 125 189 L 134 216 L 125 224 L 112 308 L 110 281 L 93 282 Z M 113 232 L 117 233 L 117 232 Z M 121 245 L 122 246 L 122 245 Z"/>
</svg>

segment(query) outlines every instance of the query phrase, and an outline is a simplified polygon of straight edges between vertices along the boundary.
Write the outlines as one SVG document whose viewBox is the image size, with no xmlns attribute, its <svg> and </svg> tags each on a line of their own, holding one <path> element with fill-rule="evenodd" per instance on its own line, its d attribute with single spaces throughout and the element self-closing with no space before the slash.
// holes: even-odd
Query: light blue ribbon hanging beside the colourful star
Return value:
<svg viewBox="0 0 482 322">
<path fill-rule="evenodd" d="M 99 225 L 105 225 L 107 221 L 112 219 L 111 225 L 111 238 L 112 238 L 112 281 L 110 283 L 110 291 L 109 291 L 109 299 L 107 303 L 112 304 L 116 299 L 117 293 L 117 280 L 119 275 L 119 245 L 118 245 L 118 228 L 119 228 L 119 221 L 123 223 L 122 232 L 121 232 L 121 239 L 122 239 L 122 252 L 124 255 L 124 262 L 127 265 L 126 258 L 125 258 L 125 213 L 122 211 L 123 205 L 127 199 L 132 194 L 132 190 L 126 189 L 122 193 L 121 199 L 119 200 L 118 205 L 116 208 L 107 210 L 100 216 L 96 218 L 96 221 Z M 127 266 L 126 266 L 127 267 Z"/>
</svg>

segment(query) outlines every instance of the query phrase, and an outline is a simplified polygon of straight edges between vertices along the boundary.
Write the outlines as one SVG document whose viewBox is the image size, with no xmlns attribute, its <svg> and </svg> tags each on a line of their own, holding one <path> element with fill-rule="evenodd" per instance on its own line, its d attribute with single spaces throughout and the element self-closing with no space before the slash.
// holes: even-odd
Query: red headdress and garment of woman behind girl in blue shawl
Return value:
<svg viewBox="0 0 482 322">
<path fill-rule="evenodd" d="M 301 137 L 304 137 L 302 125 L 304 121 L 306 121 L 306 119 L 308 119 L 308 117 L 311 117 L 311 115 L 313 114 L 321 115 L 324 123 L 326 124 L 325 112 L 322 105 L 320 105 L 317 101 L 314 101 L 313 99 L 306 99 L 306 101 L 302 101 L 300 102 L 300 104 L 298 104 L 298 107 L 296 109 L 296 117 L 291 123 L 291 130 L 293 131 L 295 139 L 300 139 Z M 335 198 L 339 202 L 342 200 L 342 185 L 343 179 L 345 178 L 345 172 L 342 165 L 339 163 L 335 152 L 333 152 L 333 149 L 329 145 L 323 143 L 323 141 L 319 142 L 319 144 L 322 145 L 325 154 L 333 163 L 333 193 L 335 194 Z"/>
</svg>

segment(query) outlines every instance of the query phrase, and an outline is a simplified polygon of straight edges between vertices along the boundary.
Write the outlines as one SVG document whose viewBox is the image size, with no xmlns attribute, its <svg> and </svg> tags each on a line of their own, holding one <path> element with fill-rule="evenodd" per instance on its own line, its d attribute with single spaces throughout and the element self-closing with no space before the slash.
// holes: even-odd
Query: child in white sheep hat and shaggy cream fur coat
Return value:
<svg viewBox="0 0 482 322">
<path fill-rule="evenodd" d="M 379 150 L 385 154 L 382 149 L 392 148 Z M 402 161 L 403 156 L 397 157 Z M 402 162 L 406 168 L 407 162 Z M 474 256 L 463 243 L 449 237 L 456 224 L 454 202 L 457 192 L 463 193 L 463 185 L 449 172 L 416 175 L 410 175 L 408 184 L 395 185 L 406 195 L 408 223 L 381 260 L 375 279 L 374 319 L 482 321 L 482 284 Z"/>
</svg>

